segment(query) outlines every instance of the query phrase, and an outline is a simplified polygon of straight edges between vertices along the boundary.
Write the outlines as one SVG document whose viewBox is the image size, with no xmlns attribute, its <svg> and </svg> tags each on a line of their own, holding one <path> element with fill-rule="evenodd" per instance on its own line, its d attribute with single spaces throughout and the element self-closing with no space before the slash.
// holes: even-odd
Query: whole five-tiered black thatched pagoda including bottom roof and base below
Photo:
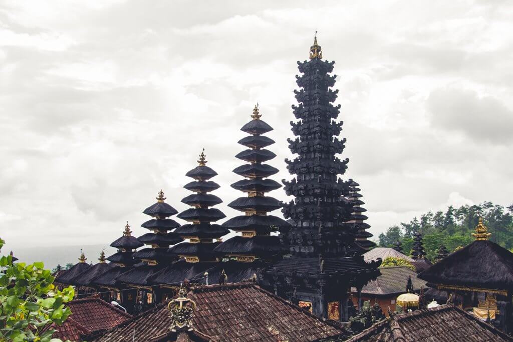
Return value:
<svg viewBox="0 0 513 342">
<path fill-rule="evenodd" d="M 135 298 L 131 297 L 129 300 L 142 303 L 142 310 L 160 303 L 164 299 L 159 287 L 150 287 L 154 284 L 149 279 L 177 259 L 176 256 L 168 253 L 168 249 L 171 245 L 183 241 L 179 235 L 171 232 L 171 230 L 180 227 L 179 223 L 169 218 L 178 212 L 165 203 L 166 197 L 164 197 L 162 190 L 156 200 L 155 204 L 143 211 L 144 214 L 152 218 L 143 223 L 141 227 L 150 230 L 150 232 L 137 238 L 148 247 L 132 254 L 132 257 L 140 260 L 141 263 L 116 278 L 119 283 L 137 289 Z"/>
</svg>

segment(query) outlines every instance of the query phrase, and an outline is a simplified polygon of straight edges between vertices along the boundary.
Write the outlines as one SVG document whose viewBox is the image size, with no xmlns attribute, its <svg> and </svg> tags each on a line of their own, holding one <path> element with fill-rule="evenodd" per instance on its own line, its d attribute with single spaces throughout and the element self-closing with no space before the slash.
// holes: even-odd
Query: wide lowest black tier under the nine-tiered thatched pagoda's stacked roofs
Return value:
<svg viewBox="0 0 513 342">
<path fill-rule="evenodd" d="M 221 243 L 214 251 L 225 254 L 265 256 L 280 252 L 285 254 L 288 249 L 280 243 L 278 236 L 234 236 Z"/>
</svg>

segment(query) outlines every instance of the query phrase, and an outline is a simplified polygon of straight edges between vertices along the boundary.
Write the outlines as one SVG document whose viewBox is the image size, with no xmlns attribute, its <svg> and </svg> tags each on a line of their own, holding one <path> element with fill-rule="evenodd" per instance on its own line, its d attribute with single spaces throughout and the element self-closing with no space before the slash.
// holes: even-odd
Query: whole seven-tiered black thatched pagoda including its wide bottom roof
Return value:
<svg viewBox="0 0 513 342">
<path fill-rule="evenodd" d="M 187 183 L 184 188 L 194 193 L 182 199 L 182 203 L 192 208 L 177 215 L 189 223 L 177 228 L 174 233 L 187 241 L 169 249 L 168 253 L 181 259 L 155 274 L 151 278 L 155 284 L 168 284 L 164 287 L 179 289 L 180 283 L 185 279 L 194 283 L 197 278 L 203 278 L 204 271 L 214 267 L 218 261 L 218 253 L 214 252 L 214 248 L 221 244 L 221 236 L 228 234 L 229 230 L 213 224 L 226 216 L 219 209 L 211 208 L 223 201 L 209 193 L 218 189 L 219 185 L 210 180 L 217 173 L 206 166 L 207 163 L 202 151 L 198 160 L 199 165 L 186 173 L 186 176 L 194 180 Z M 170 291 L 173 295 L 174 292 Z"/>
</svg>

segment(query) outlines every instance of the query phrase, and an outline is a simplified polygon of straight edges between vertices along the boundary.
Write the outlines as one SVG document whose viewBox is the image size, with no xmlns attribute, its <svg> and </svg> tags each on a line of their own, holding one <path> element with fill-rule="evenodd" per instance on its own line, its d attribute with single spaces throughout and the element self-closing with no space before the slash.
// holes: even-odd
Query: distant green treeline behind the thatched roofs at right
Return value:
<svg viewBox="0 0 513 342">
<path fill-rule="evenodd" d="M 389 227 L 386 233 L 381 233 L 380 247 L 393 247 L 399 240 L 403 245 L 403 253 L 409 255 L 413 245 L 413 234 L 420 232 L 423 236 L 424 248 L 429 259 L 435 258 L 437 250 L 444 245 L 450 252 L 471 243 L 474 238 L 471 233 L 483 217 L 490 240 L 511 250 L 513 248 L 513 204 L 504 208 L 491 202 L 479 205 L 454 208 L 449 206 L 447 211 L 428 211 L 426 214 L 414 217 L 401 226 Z"/>
</svg>

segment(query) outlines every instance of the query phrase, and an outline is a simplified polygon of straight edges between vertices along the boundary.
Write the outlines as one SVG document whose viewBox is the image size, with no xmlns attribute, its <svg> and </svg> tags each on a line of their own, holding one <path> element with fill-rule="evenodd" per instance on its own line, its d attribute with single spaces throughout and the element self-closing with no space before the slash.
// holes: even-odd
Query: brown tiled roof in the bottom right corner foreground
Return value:
<svg viewBox="0 0 513 342">
<path fill-rule="evenodd" d="M 392 315 L 347 342 L 513 341 L 481 319 L 453 305 Z"/>
</svg>

